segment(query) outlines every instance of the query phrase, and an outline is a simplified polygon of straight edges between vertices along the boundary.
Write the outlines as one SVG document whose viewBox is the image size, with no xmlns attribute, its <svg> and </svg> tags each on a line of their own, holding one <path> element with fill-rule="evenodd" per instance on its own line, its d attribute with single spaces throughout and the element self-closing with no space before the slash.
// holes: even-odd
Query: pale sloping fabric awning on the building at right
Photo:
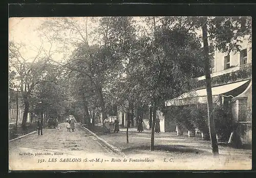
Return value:
<svg viewBox="0 0 256 178">
<path fill-rule="evenodd" d="M 249 84 L 248 83 L 249 81 L 250 80 L 246 80 L 246 81 L 221 85 L 217 87 L 212 87 L 211 88 L 212 101 L 214 103 L 217 103 L 219 95 L 230 94 L 232 90 L 240 88 L 244 84 Z M 235 92 L 236 96 L 240 93 Z M 167 100 L 165 101 L 165 106 L 181 106 L 181 105 L 206 104 L 206 103 L 207 103 L 207 92 L 206 92 L 206 88 L 204 88 L 204 89 L 189 91 L 189 92 L 183 93 L 182 95 L 174 99 Z"/>
</svg>

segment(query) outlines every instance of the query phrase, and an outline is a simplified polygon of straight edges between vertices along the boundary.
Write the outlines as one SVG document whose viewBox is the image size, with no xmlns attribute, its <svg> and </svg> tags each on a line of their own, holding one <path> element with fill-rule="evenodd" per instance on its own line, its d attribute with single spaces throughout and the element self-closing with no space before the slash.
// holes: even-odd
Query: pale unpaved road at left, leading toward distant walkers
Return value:
<svg viewBox="0 0 256 178">
<path fill-rule="evenodd" d="M 75 132 L 68 132 L 66 123 L 58 127 L 43 130 L 42 136 L 36 132 L 9 142 L 9 169 L 93 169 L 120 157 L 79 124 Z"/>
</svg>

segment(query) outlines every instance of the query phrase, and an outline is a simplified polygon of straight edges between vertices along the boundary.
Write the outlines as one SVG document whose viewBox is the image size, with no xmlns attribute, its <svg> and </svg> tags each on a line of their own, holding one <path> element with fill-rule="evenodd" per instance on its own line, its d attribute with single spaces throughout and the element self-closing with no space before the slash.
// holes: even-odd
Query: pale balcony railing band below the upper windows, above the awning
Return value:
<svg viewBox="0 0 256 178">
<path fill-rule="evenodd" d="M 211 73 L 210 77 L 214 78 L 214 77 L 217 77 L 219 75 L 223 75 L 223 74 L 226 74 L 226 73 L 231 73 L 231 72 L 238 71 L 238 70 L 239 71 L 251 71 L 251 63 L 247 63 L 247 64 L 243 64 L 243 65 L 240 65 L 240 66 L 231 67 L 231 68 L 219 71 L 219 72 Z M 198 81 L 205 80 L 205 76 L 203 75 L 203 76 L 198 77 L 196 79 Z"/>
</svg>

